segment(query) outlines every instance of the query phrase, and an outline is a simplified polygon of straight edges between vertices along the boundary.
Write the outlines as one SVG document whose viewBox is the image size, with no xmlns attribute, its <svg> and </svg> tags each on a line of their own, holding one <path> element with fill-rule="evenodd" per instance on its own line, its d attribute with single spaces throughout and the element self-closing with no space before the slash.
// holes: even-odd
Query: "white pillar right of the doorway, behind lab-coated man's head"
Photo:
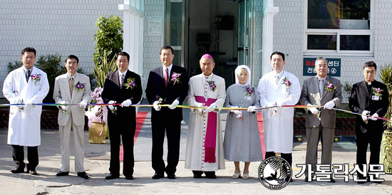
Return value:
<svg viewBox="0 0 392 195">
<path fill-rule="evenodd" d="M 263 53 L 262 53 L 262 75 L 269 73 L 271 65 L 269 65 L 269 56 L 274 52 L 274 16 L 279 12 L 279 7 L 274 6 L 273 0 L 267 1 L 264 8 L 263 17 Z"/>
</svg>

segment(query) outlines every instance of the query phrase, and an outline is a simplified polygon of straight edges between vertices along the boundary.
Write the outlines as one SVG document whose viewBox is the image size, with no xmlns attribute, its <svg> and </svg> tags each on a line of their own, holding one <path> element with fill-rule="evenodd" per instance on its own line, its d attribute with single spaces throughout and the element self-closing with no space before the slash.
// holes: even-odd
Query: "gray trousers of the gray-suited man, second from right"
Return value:
<svg viewBox="0 0 392 195">
<path fill-rule="evenodd" d="M 311 170 L 316 171 L 317 147 L 321 139 L 321 164 L 331 164 L 332 144 L 334 143 L 334 128 L 319 127 L 306 128 L 306 164 L 311 164 Z M 307 170 L 306 170 L 307 173 Z M 312 177 L 314 174 L 312 174 Z"/>
</svg>

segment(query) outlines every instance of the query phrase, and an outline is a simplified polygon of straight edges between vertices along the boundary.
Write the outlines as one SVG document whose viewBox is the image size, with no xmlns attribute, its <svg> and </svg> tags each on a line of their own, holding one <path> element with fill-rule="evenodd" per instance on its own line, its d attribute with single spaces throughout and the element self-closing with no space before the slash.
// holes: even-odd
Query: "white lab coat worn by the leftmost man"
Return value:
<svg viewBox="0 0 392 195">
<path fill-rule="evenodd" d="M 18 68 L 11 71 L 4 80 L 3 94 L 9 102 L 17 103 L 19 97 L 23 102 L 33 100 L 33 103 L 42 103 L 49 91 L 48 77 L 46 73 L 34 67 L 31 75 L 41 75 L 40 81 L 31 80 L 26 82 L 24 69 Z M 9 110 L 9 128 L 7 144 L 34 147 L 41 145 L 41 112 L 42 106 L 13 105 Z"/>
</svg>

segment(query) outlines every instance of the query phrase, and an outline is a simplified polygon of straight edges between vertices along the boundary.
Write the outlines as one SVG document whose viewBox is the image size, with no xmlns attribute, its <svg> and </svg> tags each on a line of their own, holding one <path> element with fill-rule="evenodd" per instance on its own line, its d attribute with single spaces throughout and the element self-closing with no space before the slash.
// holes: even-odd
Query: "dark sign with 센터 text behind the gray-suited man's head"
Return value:
<svg viewBox="0 0 392 195">
<path fill-rule="evenodd" d="M 304 76 L 316 75 L 314 64 L 317 58 L 304 58 Z M 326 58 L 328 60 L 328 75 L 332 77 L 340 77 L 341 59 L 340 58 Z"/>
</svg>

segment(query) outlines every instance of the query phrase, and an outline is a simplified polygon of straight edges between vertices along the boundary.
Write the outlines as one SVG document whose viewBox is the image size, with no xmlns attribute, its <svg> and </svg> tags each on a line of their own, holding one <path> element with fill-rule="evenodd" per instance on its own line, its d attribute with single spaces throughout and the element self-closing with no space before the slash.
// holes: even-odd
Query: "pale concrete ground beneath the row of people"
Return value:
<svg viewBox="0 0 392 195">
<path fill-rule="evenodd" d="M 141 109 L 140 111 L 148 111 Z M 177 179 L 167 178 L 153 180 L 151 168 L 151 130 L 150 112 L 145 119 L 135 142 L 135 179 L 128 181 L 124 176 L 120 179 L 105 180 L 108 175 L 110 145 L 89 144 L 88 132 L 86 140 L 86 172 L 91 179 L 85 180 L 76 176 L 73 157 L 69 176 L 56 176 L 60 169 L 61 154 L 58 131 L 42 131 L 39 150 L 38 176 L 30 174 L 12 174 L 14 167 L 11 157 L 11 146 L 6 144 L 6 130 L 0 130 L 0 194 L 392 194 L 392 175 L 383 175 L 382 184 L 356 184 L 344 179 L 336 179 L 336 183 L 304 182 L 304 176 L 294 178 L 284 189 L 270 190 L 265 188 L 257 178 L 260 162 L 250 164 L 250 179 L 232 179 L 234 164 L 226 162 L 226 169 L 217 172 L 217 179 L 194 179 L 189 169 L 184 169 L 185 144 L 187 137 L 187 121 L 189 113 L 184 110 L 185 122 L 182 122 L 180 163 L 177 166 Z M 225 126 L 226 115 L 222 114 Z M 73 138 L 71 138 L 73 140 Z M 108 140 L 107 140 L 108 141 Z M 72 144 L 71 144 L 72 147 Z M 319 146 L 319 149 L 321 147 Z M 71 155 L 73 154 L 71 148 Z M 304 164 L 306 142 L 295 142 L 293 149 L 293 172 L 298 174 L 301 169 L 295 164 Z M 319 153 L 319 157 L 321 154 Z M 164 155 L 166 158 L 166 154 Z M 349 163 L 350 170 L 356 162 L 356 146 L 354 142 L 335 142 L 333 163 Z M 241 163 L 241 167 L 243 167 Z"/>
</svg>

